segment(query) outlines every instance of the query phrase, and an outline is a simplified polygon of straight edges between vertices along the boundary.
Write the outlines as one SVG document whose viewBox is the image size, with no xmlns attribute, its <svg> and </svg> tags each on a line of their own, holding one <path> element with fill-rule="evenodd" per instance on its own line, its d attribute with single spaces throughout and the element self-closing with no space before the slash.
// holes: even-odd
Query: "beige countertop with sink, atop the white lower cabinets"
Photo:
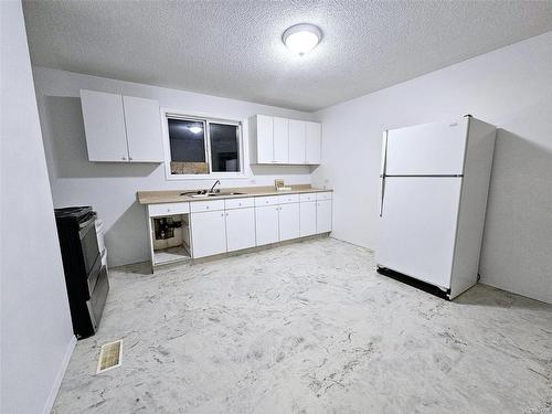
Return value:
<svg viewBox="0 0 552 414">
<path fill-rule="evenodd" d="M 312 188 L 309 184 L 290 185 L 290 187 L 291 190 L 286 190 L 286 191 L 276 191 L 274 187 L 238 187 L 232 189 L 220 189 L 221 193 L 223 194 L 216 197 L 191 197 L 195 192 L 194 190 L 138 191 L 136 193 L 136 197 L 140 204 L 158 204 L 158 203 L 176 203 L 185 201 L 238 199 L 243 197 L 300 194 L 308 192 L 333 191 L 333 190 Z M 241 194 L 227 194 L 232 192 Z"/>
</svg>

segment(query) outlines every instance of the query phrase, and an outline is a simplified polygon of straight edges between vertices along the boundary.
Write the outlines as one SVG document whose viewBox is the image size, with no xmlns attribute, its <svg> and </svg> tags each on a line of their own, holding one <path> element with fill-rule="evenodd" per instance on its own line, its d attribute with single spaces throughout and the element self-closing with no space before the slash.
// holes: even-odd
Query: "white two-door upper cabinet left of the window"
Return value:
<svg viewBox="0 0 552 414">
<path fill-rule="evenodd" d="M 81 102 L 89 161 L 164 160 L 157 100 L 81 89 Z"/>
</svg>

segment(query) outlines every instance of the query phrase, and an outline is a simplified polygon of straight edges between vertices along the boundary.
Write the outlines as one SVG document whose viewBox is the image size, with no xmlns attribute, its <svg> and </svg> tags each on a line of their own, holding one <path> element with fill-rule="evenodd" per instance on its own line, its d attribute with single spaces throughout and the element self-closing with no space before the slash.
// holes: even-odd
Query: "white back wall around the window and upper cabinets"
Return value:
<svg viewBox="0 0 552 414">
<path fill-rule="evenodd" d="M 107 79 L 76 73 L 34 67 L 44 148 L 55 206 L 89 205 L 105 222 L 110 266 L 149 259 L 145 208 L 136 192 L 144 190 L 184 190 L 209 188 L 212 180 L 167 181 L 163 164 L 88 162 L 81 109 L 79 89 L 121 93 L 159 100 L 161 107 L 183 114 L 206 113 L 244 121 L 255 114 L 311 119 L 312 115 L 220 98 L 184 91 Z M 247 153 L 246 153 L 247 156 Z M 245 158 L 248 168 L 248 160 Z M 222 187 L 274 185 L 275 178 L 286 183 L 310 183 L 310 168 L 304 166 L 254 166 L 246 179 L 221 180 Z"/>
</svg>

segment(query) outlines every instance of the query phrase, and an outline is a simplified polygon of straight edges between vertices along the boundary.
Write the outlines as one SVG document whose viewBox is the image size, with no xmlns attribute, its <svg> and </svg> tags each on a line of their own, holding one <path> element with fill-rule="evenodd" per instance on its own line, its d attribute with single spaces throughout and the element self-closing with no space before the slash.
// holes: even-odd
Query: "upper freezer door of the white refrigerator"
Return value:
<svg viewBox="0 0 552 414">
<path fill-rule="evenodd" d="M 388 131 L 385 174 L 460 176 L 468 118 Z"/>
</svg>

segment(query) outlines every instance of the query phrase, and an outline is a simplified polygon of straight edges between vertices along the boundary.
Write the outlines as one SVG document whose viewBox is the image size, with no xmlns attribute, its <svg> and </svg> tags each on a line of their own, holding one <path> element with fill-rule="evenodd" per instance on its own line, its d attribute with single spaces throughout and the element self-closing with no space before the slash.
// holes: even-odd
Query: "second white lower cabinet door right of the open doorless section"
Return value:
<svg viewBox="0 0 552 414">
<path fill-rule="evenodd" d="M 226 248 L 229 252 L 255 246 L 255 209 L 227 210 Z"/>
</svg>

